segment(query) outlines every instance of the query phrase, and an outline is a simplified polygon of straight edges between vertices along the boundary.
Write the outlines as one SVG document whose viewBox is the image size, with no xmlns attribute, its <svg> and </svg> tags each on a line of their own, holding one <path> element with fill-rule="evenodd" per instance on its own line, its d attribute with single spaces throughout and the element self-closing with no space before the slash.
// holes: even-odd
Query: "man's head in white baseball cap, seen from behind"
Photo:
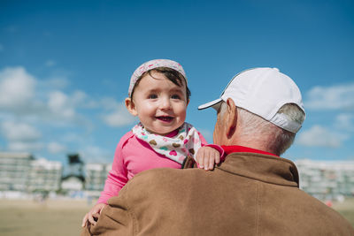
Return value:
<svg viewBox="0 0 354 236">
<path fill-rule="evenodd" d="M 220 98 L 199 106 L 218 110 L 214 143 L 242 145 L 281 155 L 304 122 L 304 105 L 295 82 L 276 68 L 235 75 Z"/>
</svg>

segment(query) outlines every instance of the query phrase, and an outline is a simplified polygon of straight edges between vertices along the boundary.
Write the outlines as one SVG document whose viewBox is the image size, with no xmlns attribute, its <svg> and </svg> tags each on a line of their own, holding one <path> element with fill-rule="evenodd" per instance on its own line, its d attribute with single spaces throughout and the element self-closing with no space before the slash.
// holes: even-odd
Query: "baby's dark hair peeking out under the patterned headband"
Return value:
<svg viewBox="0 0 354 236">
<path fill-rule="evenodd" d="M 184 76 L 180 72 L 177 72 L 177 71 L 175 71 L 171 68 L 168 68 L 168 67 L 157 67 L 157 68 L 154 68 L 150 71 L 143 72 L 142 75 L 139 77 L 139 79 L 135 82 L 135 87 L 133 88 L 132 95 L 130 95 L 131 98 L 133 98 L 135 88 L 139 85 L 140 80 L 142 80 L 142 78 L 146 74 L 149 74 L 153 78 L 153 76 L 151 75 L 151 72 L 160 72 L 160 73 L 164 74 L 168 80 L 170 80 L 171 82 L 173 82 L 173 84 L 175 84 L 179 87 L 181 87 L 183 85 L 182 81 L 184 80 L 185 84 L 186 84 L 187 101 L 189 101 L 190 90 L 187 85 L 187 80 L 184 78 Z"/>
</svg>

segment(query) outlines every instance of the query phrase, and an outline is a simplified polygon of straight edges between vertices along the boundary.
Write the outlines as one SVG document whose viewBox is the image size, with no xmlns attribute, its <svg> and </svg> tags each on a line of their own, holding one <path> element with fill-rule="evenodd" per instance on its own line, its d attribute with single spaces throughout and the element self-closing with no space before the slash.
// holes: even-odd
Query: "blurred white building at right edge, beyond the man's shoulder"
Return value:
<svg viewBox="0 0 354 236">
<path fill-rule="evenodd" d="M 320 200 L 354 196 L 354 161 L 295 162 L 300 188 Z"/>
</svg>

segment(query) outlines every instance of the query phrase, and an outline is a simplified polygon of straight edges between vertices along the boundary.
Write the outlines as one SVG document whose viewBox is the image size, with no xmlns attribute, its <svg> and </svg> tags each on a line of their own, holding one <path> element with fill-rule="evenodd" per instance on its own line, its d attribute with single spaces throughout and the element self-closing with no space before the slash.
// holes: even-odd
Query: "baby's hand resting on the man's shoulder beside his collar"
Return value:
<svg viewBox="0 0 354 236">
<path fill-rule="evenodd" d="M 196 152 L 196 163 L 199 168 L 209 171 L 214 169 L 214 164 L 220 163 L 220 153 L 211 147 L 202 147 Z"/>
</svg>

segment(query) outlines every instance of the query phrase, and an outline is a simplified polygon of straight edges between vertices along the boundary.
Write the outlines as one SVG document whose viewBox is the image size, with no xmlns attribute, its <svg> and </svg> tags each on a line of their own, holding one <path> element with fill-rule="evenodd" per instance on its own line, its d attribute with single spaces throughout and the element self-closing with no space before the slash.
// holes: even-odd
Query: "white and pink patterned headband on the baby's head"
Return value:
<svg viewBox="0 0 354 236">
<path fill-rule="evenodd" d="M 158 67 L 167 67 L 167 68 L 171 68 L 177 72 L 180 72 L 184 76 L 184 79 L 186 79 L 186 82 L 187 82 L 186 73 L 184 72 L 183 67 L 178 62 L 168 60 L 168 59 L 150 60 L 150 61 L 145 62 L 144 64 L 140 65 L 133 73 L 132 77 L 130 78 L 129 89 L 127 91 L 128 95 L 129 96 L 132 95 L 136 81 L 139 80 L 139 78 L 142 76 L 142 74 L 144 72 L 149 72 L 150 70 L 158 68 Z"/>
</svg>

